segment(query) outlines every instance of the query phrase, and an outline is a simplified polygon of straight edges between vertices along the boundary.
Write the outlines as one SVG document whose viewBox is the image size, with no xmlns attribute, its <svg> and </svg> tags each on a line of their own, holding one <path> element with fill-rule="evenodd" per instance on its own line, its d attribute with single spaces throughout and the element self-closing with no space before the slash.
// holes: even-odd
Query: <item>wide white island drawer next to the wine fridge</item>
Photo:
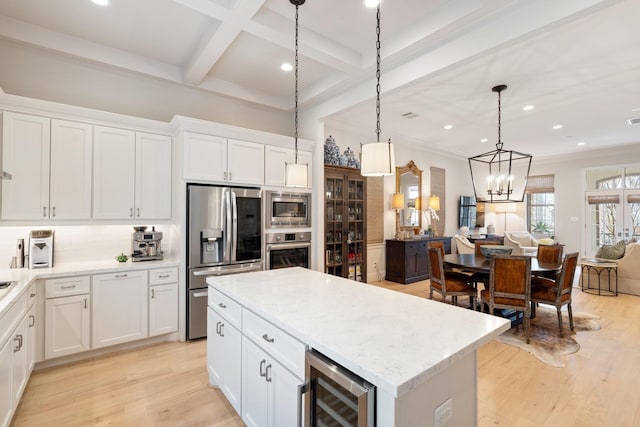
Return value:
<svg viewBox="0 0 640 427">
<path fill-rule="evenodd" d="M 242 312 L 242 324 L 244 335 L 295 375 L 304 378 L 304 343 L 249 310 Z"/>
</svg>

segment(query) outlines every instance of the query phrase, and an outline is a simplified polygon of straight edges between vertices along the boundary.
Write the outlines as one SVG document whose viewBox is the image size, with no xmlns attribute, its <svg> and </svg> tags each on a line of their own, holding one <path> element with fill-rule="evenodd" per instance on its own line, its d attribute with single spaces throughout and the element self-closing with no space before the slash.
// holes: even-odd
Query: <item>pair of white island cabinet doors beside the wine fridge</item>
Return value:
<svg viewBox="0 0 640 427">
<path fill-rule="evenodd" d="M 243 337 L 242 420 L 248 426 L 297 426 L 301 383 L 301 379 Z"/>
</svg>

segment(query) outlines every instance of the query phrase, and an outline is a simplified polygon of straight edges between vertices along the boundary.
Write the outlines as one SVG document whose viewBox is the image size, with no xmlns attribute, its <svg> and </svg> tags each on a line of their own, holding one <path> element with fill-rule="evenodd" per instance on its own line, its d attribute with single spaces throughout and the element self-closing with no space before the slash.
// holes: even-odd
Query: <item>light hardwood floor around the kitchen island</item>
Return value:
<svg viewBox="0 0 640 427">
<path fill-rule="evenodd" d="M 428 282 L 376 284 L 419 297 Z M 640 298 L 574 289 L 574 312 L 601 317 L 552 368 L 491 341 L 478 353 L 479 426 L 640 425 Z M 167 343 L 33 373 L 13 426 L 242 426 L 208 387 L 206 342 Z M 455 404 L 454 404 L 455 408 Z"/>
</svg>

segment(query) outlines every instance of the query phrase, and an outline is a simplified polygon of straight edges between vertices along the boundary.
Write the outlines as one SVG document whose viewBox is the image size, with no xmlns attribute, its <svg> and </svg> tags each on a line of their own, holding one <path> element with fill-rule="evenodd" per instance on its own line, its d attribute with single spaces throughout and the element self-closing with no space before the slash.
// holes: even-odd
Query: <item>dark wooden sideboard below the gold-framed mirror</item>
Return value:
<svg viewBox="0 0 640 427">
<path fill-rule="evenodd" d="M 442 242 L 445 253 L 451 253 L 451 237 L 424 237 L 420 239 L 386 241 L 386 280 L 414 283 L 429 278 L 427 248 L 430 242 Z"/>
</svg>

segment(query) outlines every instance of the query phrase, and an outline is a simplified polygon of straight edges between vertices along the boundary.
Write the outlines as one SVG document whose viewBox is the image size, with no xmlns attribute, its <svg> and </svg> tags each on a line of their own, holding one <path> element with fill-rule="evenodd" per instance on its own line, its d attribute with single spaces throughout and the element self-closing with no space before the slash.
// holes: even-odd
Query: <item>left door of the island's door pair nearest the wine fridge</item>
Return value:
<svg viewBox="0 0 640 427">
<path fill-rule="evenodd" d="M 249 427 L 268 425 L 267 359 L 260 347 L 242 337 L 242 421 Z"/>
</svg>

